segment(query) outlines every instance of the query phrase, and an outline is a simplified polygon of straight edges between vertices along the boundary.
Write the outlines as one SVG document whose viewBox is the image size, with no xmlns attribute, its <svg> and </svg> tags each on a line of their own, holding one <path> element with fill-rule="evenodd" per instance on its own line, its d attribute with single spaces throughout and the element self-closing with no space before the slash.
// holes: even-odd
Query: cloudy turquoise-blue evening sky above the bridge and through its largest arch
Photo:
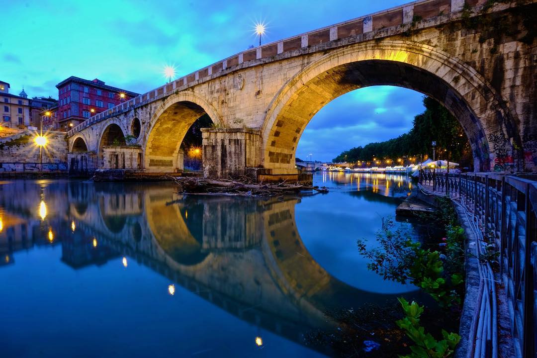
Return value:
<svg viewBox="0 0 537 358">
<path fill-rule="evenodd" d="M 263 42 L 336 24 L 408 0 L 253 1 L 8 1 L 2 4 L 0 80 L 11 93 L 57 98 L 69 76 L 99 78 L 144 93 L 256 45 L 253 24 L 263 21 Z M 296 156 L 331 160 L 341 151 L 387 140 L 409 130 L 423 112 L 422 94 L 369 87 L 326 105 L 306 127 Z"/>
</svg>

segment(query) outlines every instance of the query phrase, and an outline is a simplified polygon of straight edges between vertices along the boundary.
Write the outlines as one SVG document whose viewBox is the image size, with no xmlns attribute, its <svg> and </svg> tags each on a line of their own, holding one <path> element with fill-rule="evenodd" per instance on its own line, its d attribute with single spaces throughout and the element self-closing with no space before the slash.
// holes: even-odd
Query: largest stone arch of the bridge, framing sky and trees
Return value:
<svg viewBox="0 0 537 358">
<path fill-rule="evenodd" d="M 410 41 L 371 41 L 338 49 L 308 65 L 271 101 L 261 134 L 263 165 L 294 173 L 296 145 L 304 128 L 327 103 L 372 85 L 407 87 L 431 96 L 459 119 L 469 138 L 476 171 L 520 170 L 516 116 L 466 63 Z M 518 162 L 518 161 L 516 161 Z"/>
</svg>

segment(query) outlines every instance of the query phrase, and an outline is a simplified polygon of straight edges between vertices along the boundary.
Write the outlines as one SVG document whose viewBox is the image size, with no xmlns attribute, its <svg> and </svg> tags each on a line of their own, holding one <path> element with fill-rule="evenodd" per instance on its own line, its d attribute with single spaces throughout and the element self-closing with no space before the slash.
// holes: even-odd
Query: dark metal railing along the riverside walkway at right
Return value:
<svg viewBox="0 0 537 358">
<path fill-rule="evenodd" d="M 436 173 L 419 182 L 460 201 L 499 252 L 515 353 L 537 357 L 537 181 L 535 174 Z M 498 272 L 497 272 L 498 274 Z M 495 318 L 497 319 L 497 317 Z"/>
</svg>

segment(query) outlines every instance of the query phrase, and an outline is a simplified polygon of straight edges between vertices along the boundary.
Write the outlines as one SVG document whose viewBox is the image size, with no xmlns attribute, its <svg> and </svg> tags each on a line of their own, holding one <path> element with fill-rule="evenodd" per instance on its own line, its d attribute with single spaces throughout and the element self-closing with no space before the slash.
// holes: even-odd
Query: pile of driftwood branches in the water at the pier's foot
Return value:
<svg viewBox="0 0 537 358">
<path fill-rule="evenodd" d="M 248 179 L 206 179 L 195 177 L 174 177 L 179 193 L 213 193 L 242 196 L 279 196 L 301 191 L 328 193 L 326 187 L 300 184 L 257 184 Z"/>
</svg>

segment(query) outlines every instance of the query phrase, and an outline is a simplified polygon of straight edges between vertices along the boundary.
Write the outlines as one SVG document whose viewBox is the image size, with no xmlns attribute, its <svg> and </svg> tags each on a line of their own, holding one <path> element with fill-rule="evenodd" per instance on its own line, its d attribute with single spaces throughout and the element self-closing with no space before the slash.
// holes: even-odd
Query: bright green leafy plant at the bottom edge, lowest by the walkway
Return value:
<svg viewBox="0 0 537 358">
<path fill-rule="evenodd" d="M 442 330 L 442 340 L 436 340 L 430 333 L 425 333 L 425 328 L 419 324 L 419 317 L 423 313 L 423 307 L 416 302 L 408 303 L 402 297 L 398 298 L 403 308 L 405 317 L 395 323 L 402 328 L 408 337 L 415 343 L 410 347 L 412 353 L 400 356 L 401 358 L 447 358 L 453 355 L 456 345 L 461 337 L 456 333 L 447 333 Z"/>
</svg>

